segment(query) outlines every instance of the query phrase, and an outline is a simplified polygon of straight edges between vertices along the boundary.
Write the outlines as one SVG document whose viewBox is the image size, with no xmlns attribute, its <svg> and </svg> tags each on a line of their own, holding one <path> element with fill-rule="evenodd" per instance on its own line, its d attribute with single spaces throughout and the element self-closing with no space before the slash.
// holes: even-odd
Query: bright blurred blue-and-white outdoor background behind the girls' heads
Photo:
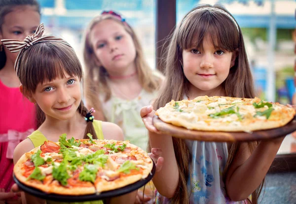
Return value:
<svg viewBox="0 0 296 204">
<path fill-rule="evenodd" d="M 161 0 L 159 0 L 161 1 Z M 114 10 L 135 29 L 151 68 L 156 68 L 157 0 L 39 0 L 41 22 L 49 34 L 65 38 L 82 60 L 83 31 L 103 10 Z M 175 23 L 199 3 L 221 3 L 235 17 L 244 35 L 258 96 L 292 103 L 295 92 L 295 0 L 166 0 L 174 3 Z M 163 15 L 168 12 L 164 8 Z M 161 10 L 160 10 L 161 11 Z M 159 13 L 159 12 L 158 12 Z M 158 15 L 159 16 L 159 15 Z M 161 17 L 161 14 L 160 14 Z M 170 18 L 170 16 L 164 16 Z M 164 19 L 165 19 L 164 18 Z M 167 32 L 169 33 L 169 31 Z"/>
</svg>

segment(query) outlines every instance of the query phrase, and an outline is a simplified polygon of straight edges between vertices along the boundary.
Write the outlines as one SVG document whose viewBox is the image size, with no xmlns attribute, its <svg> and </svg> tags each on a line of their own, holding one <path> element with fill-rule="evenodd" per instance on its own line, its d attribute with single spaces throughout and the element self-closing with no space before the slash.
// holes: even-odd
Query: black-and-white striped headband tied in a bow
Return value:
<svg viewBox="0 0 296 204">
<path fill-rule="evenodd" d="M 71 45 L 66 42 L 65 40 L 55 37 L 53 35 L 44 35 L 44 25 L 40 24 L 33 35 L 28 35 L 24 41 L 19 41 L 16 39 L 1 39 L 2 44 L 10 51 L 10 52 L 19 52 L 17 55 L 15 64 L 14 64 L 14 70 L 16 71 L 18 75 L 18 68 L 19 68 L 19 59 L 22 53 L 28 49 L 30 46 L 38 43 L 38 42 L 46 42 L 46 41 L 58 41 L 65 45 L 68 45 L 71 47 Z"/>
</svg>

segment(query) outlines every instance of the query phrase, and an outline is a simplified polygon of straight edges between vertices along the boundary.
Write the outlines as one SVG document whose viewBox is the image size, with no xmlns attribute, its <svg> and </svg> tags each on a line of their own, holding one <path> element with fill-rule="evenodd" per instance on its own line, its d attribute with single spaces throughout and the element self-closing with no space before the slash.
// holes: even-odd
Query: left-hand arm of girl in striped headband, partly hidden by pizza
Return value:
<svg viewBox="0 0 296 204">
<path fill-rule="evenodd" d="M 31 151 L 34 148 L 35 147 L 29 138 L 21 141 L 14 149 L 13 163 L 16 164 L 16 162 L 21 158 L 21 156 L 23 156 L 23 154 Z M 14 189 L 19 190 L 16 186 L 14 186 Z M 22 193 L 22 202 L 23 204 L 45 204 L 46 203 L 45 200 L 31 196 L 30 194 L 27 194 L 27 193 Z"/>
</svg>

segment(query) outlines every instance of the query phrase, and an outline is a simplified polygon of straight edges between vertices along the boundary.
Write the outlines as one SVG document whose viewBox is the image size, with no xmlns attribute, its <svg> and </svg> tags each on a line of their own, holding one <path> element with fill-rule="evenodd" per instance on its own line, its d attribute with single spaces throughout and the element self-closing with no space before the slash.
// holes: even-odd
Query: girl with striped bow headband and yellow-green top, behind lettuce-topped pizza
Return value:
<svg viewBox="0 0 296 204">
<path fill-rule="evenodd" d="M 27 36 L 24 41 L 1 40 L 10 51 L 20 51 L 15 63 L 15 71 L 21 82 L 20 91 L 40 110 L 37 111 L 40 126 L 17 145 L 14 163 L 44 141 L 57 142 L 65 133 L 68 139 L 88 138 L 86 134 L 90 133 L 98 139 L 123 140 L 122 131 L 117 125 L 94 120 L 91 115 L 93 109 L 89 112 L 83 105 L 82 67 L 74 49 L 66 41 L 43 35 L 43 32 L 41 24 L 36 33 Z M 133 203 L 136 193 L 111 199 L 111 203 Z M 28 204 L 45 203 L 29 194 L 25 199 Z M 90 203 L 103 204 L 102 201 L 87 202 Z"/>
</svg>

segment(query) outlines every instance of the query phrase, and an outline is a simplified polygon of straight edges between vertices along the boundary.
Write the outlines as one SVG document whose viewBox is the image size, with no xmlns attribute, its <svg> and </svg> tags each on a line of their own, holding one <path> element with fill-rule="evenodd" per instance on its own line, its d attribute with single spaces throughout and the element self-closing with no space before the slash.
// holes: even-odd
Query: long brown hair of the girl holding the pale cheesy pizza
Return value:
<svg viewBox="0 0 296 204">
<path fill-rule="evenodd" d="M 154 103 L 155 109 L 163 107 L 171 100 L 183 100 L 184 93 L 188 93 L 190 82 L 183 72 L 182 52 L 192 47 L 202 50 L 202 42 L 207 34 L 210 34 L 215 47 L 230 52 L 238 51 L 234 66 L 230 68 L 227 78 L 222 83 L 226 96 L 240 98 L 255 97 L 252 74 L 240 28 L 237 28 L 228 16 L 214 9 L 201 9 L 201 11 L 192 12 L 202 7 L 216 7 L 231 15 L 224 7 L 219 5 L 200 5 L 187 13 L 171 36 L 165 59 L 166 81 L 159 93 L 159 97 Z M 187 189 L 187 179 L 190 175 L 188 161 L 190 161 L 191 155 L 185 144 L 185 140 L 173 137 L 173 145 L 180 179 L 174 197 L 172 198 L 172 203 L 189 203 L 189 195 L 185 189 Z M 257 142 L 248 143 L 251 152 L 254 151 L 257 145 Z M 239 147 L 240 143 L 228 144 L 228 158 L 223 173 L 224 181 L 226 172 Z M 253 204 L 257 204 L 261 189 L 262 184 L 252 194 Z"/>
</svg>

